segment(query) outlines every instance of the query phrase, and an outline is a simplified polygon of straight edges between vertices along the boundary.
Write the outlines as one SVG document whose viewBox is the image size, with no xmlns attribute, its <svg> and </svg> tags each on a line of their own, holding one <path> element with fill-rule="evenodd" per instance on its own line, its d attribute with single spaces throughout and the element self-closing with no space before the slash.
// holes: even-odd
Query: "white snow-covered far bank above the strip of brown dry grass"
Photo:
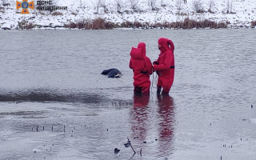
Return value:
<svg viewBox="0 0 256 160">
<path fill-rule="evenodd" d="M 28 1 L 30 2 L 30 1 Z M 121 26 L 122 22 L 156 23 L 183 22 L 184 19 L 202 22 L 224 22 L 230 28 L 254 27 L 256 21 L 256 2 L 254 0 L 53 0 L 54 6 L 67 6 L 67 10 L 37 10 L 37 0 L 30 14 L 20 14 L 14 0 L 0 0 L 0 29 L 21 29 L 21 23 L 36 28 L 62 28 L 71 22 L 83 19 L 103 18 Z M 135 2 L 134 9 L 131 3 Z M 138 2 L 138 3 L 136 3 Z M 154 3 L 152 6 L 151 2 Z M 200 2 L 196 13 L 195 3 Z M 229 7 L 228 7 L 229 6 Z M 153 10 L 152 10 L 153 8 Z M 229 14 L 227 14 L 229 13 Z"/>
</svg>

